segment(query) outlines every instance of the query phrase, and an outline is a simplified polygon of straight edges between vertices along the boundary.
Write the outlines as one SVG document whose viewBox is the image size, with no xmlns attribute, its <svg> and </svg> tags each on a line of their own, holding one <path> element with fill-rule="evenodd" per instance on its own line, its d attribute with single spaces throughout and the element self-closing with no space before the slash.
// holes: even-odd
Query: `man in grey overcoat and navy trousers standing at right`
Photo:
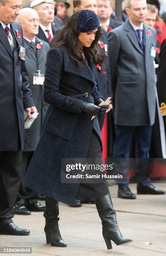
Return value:
<svg viewBox="0 0 166 256">
<path fill-rule="evenodd" d="M 130 157 L 130 143 L 135 135 L 136 178 L 138 194 L 164 194 L 153 187 L 148 177 L 148 158 L 156 110 L 156 31 L 143 24 L 146 0 L 128 0 L 129 19 L 108 34 L 112 91 L 115 104 L 114 157 Z M 144 159 L 140 161 L 139 159 Z M 118 197 L 135 199 L 128 187 L 128 161 L 117 160 L 123 179 L 117 179 Z"/>
</svg>

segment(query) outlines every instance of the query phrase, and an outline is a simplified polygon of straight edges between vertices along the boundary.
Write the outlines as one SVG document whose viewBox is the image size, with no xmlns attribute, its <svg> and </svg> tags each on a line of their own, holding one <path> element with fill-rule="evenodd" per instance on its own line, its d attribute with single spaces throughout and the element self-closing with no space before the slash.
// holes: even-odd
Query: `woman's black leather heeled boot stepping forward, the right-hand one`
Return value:
<svg viewBox="0 0 166 256">
<path fill-rule="evenodd" d="M 95 200 L 95 204 L 100 219 L 102 220 L 102 235 L 105 239 L 107 249 L 112 249 L 111 240 L 114 241 L 116 245 L 132 242 L 132 239 L 126 239 L 120 233 L 110 194 Z"/>
</svg>

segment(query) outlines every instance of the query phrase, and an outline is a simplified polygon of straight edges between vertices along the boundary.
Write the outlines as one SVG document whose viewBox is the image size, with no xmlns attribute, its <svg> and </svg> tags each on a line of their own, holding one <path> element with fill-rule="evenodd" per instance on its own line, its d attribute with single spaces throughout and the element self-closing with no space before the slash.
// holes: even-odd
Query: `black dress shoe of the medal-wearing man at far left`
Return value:
<svg viewBox="0 0 166 256">
<path fill-rule="evenodd" d="M 13 222 L 5 227 L 0 228 L 0 234 L 13 235 L 13 236 L 27 236 L 30 231 L 28 229 L 18 228 Z"/>
</svg>

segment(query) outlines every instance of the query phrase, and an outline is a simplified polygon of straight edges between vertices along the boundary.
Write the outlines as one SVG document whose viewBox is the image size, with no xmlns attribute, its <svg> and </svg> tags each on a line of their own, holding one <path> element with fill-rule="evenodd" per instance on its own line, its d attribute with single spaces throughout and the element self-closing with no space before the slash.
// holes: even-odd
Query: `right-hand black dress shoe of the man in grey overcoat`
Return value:
<svg viewBox="0 0 166 256">
<path fill-rule="evenodd" d="M 143 184 L 137 185 L 137 194 L 139 195 L 145 195 L 145 194 L 151 194 L 151 195 L 164 195 L 166 193 L 165 190 L 158 189 L 154 187 L 152 184 L 148 186 L 143 186 Z"/>
</svg>

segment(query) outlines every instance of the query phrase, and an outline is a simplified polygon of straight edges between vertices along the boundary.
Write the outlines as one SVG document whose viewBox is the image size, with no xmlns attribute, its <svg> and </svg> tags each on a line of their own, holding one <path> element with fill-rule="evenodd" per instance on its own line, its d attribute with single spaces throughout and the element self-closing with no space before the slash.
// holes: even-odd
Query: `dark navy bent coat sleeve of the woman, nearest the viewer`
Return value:
<svg viewBox="0 0 166 256">
<path fill-rule="evenodd" d="M 44 100 L 62 110 L 74 113 L 81 112 L 82 100 L 62 95 L 59 92 L 59 83 L 64 70 L 63 54 L 60 49 L 53 48 L 49 51 L 46 61 L 44 80 Z"/>
</svg>

